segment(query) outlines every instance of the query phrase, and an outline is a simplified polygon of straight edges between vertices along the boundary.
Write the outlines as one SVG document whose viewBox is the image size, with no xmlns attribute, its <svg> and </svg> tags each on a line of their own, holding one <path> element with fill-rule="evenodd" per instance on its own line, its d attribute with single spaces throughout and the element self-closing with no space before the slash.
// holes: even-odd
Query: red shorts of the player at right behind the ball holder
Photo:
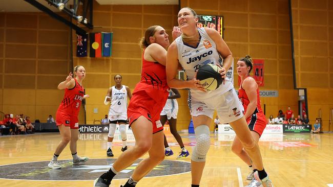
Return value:
<svg viewBox="0 0 333 187">
<path fill-rule="evenodd" d="M 252 131 L 257 132 L 259 136 L 261 136 L 267 125 L 266 116 L 264 113 L 252 114 L 252 116 L 248 118 L 246 122 L 248 124 L 248 128 Z"/>
</svg>

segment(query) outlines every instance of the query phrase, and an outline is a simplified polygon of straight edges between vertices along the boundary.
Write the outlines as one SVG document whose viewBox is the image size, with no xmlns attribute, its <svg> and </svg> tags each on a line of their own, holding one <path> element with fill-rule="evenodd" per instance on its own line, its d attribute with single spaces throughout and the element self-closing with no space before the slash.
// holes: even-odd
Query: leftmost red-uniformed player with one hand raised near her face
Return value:
<svg viewBox="0 0 333 187">
<path fill-rule="evenodd" d="M 78 113 L 82 99 L 88 98 L 89 95 L 84 95 L 84 87 L 82 80 L 86 76 L 86 69 L 84 66 L 77 65 L 74 67 L 75 78 L 72 72 L 69 73 L 66 80 L 60 82 L 58 89 L 65 89 L 65 96 L 56 113 L 56 125 L 59 128 L 61 141 L 56 148 L 53 158 L 51 159 L 48 167 L 52 169 L 60 169 L 58 163 L 58 156 L 61 151 L 70 143 L 70 150 L 73 156 L 73 165 L 86 162 L 88 157 L 79 157 L 76 152 L 76 142 L 78 139 Z"/>
</svg>

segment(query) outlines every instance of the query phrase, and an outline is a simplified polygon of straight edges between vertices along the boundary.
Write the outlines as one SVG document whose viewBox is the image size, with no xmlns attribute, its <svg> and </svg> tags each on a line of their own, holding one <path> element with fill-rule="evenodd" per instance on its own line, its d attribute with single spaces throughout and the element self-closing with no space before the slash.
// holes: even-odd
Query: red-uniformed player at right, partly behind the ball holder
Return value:
<svg viewBox="0 0 333 187">
<path fill-rule="evenodd" d="M 258 143 L 259 138 L 266 127 L 266 116 L 263 113 L 260 105 L 259 88 L 258 84 L 253 77 L 249 76 L 253 68 L 252 58 L 245 56 L 237 62 L 237 74 L 241 78 L 241 85 L 238 90 L 238 98 L 244 107 L 244 116 L 248 124 L 248 128 L 251 130 L 251 134 L 255 141 Z M 250 173 L 246 177 L 247 180 L 252 180 L 248 187 L 256 186 L 257 180 L 254 178 L 254 172 L 256 171 L 251 159 L 246 151 L 243 149 L 243 145 L 236 135 L 232 146 L 232 151 L 239 156 L 249 167 Z"/>
</svg>

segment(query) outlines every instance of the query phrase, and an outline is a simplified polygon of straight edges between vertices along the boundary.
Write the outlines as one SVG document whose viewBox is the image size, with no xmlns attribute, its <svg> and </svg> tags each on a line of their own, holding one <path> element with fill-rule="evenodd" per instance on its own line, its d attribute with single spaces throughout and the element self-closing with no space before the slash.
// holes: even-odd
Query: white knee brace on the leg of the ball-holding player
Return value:
<svg viewBox="0 0 333 187">
<path fill-rule="evenodd" d="M 193 148 L 191 159 L 193 161 L 203 162 L 206 160 L 206 154 L 210 148 L 210 129 L 206 125 L 200 125 L 194 129 L 197 144 Z"/>
</svg>

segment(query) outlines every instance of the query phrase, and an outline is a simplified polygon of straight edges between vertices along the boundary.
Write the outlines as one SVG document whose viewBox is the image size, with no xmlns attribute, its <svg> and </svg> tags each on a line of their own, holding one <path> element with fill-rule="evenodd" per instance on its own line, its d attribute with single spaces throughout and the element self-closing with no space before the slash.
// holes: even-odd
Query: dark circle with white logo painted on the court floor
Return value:
<svg viewBox="0 0 333 187">
<path fill-rule="evenodd" d="M 0 166 L 1 179 L 19 180 L 94 180 L 107 172 L 115 158 L 89 159 L 82 165 L 73 165 L 72 159 L 58 160 L 61 170 L 48 167 L 50 161 L 34 161 L 14 163 Z M 131 166 L 120 171 L 114 179 L 128 179 L 133 174 L 138 163 L 137 159 Z M 191 163 L 181 160 L 163 160 L 147 174 L 146 177 L 168 176 L 191 172 Z M 73 177 L 75 176 L 75 177 Z"/>
</svg>

